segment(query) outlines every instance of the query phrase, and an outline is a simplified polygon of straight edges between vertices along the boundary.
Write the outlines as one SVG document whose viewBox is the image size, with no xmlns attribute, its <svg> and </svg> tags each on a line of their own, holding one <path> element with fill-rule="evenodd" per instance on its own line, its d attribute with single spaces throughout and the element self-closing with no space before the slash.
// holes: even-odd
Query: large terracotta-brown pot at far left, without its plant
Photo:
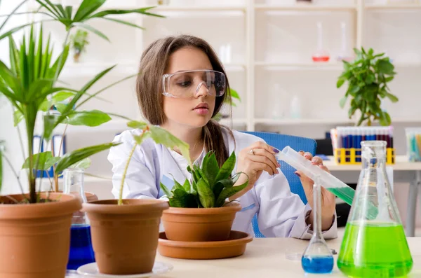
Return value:
<svg viewBox="0 0 421 278">
<path fill-rule="evenodd" d="M 41 193 L 42 198 L 46 195 Z M 18 202 L 24 199 L 9 196 Z M 65 277 L 72 214 L 81 209 L 81 202 L 62 193 L 49 193 L 49 198 L 57 202 L 15 204 L 0 197 L 1 278 Z"/>
</svg>

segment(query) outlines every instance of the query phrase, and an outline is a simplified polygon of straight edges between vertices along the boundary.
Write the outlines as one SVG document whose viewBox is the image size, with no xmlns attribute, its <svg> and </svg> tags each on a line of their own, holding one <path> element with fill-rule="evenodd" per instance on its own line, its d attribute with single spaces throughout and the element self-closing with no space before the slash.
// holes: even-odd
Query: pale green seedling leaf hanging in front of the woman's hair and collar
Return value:
<svg viewBox="0 0 421 278">
<path fill-rule="evenodd" d="M 189 144 L 187 144 L 185 141 L 181 141 L 173 134 L 161 127 L 149 125 L 149 130 L 151 132 L 151 137 L 156 142 L 156 144 L 163 144 L 163 146 L 166 146 L 167 148 L 178 148 L 182 156 L 187 160 L 188 164 L 192 165 Z"/>
</svg>

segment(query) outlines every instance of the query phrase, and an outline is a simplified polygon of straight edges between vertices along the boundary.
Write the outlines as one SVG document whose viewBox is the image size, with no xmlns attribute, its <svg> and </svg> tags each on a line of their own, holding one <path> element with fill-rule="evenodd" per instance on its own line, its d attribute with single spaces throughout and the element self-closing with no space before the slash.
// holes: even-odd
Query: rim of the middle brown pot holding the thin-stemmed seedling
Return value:
<svg viewBox="0 0 421 278">
<path fill-rule="evenodd" d="M 159 199 L 123 199 L 123 205 L 118 200 L 98 200 L 82 204 L 81 211 L 100 214 L 141 214 L 168 209 L 168 202 Z"/>
</svg>

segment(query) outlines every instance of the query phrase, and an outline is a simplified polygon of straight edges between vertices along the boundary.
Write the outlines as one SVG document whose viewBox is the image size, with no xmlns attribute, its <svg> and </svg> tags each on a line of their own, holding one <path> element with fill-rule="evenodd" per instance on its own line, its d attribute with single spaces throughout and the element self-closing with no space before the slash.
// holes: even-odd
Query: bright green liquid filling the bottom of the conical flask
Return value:
<svg viewBox="0 0 421 278">
<path fill-rule="evenodd" d="M 406 276 L 413 267 L 402 225 L 347 223 L 338 268 L 349 277 Z"/>
</svg>

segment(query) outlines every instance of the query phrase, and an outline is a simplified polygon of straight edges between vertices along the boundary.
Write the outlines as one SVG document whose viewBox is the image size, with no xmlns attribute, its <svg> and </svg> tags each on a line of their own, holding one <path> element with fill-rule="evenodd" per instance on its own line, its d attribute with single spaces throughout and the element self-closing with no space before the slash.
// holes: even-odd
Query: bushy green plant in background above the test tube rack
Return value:
<svg viewBox="0 0 421 278">
<path fill-rule="evenodd" d="M 398 102 L 398 98 L 390 93 L 387 85 L 394 79 L 396 72 L 394 65 L 385 53 L 375 54 L 370 48 L 358 50 L 354 48 L 356 59 L 353 62 L 344 62 L 345 71 L 338 78 L 337 88 L 348 81 L 345 96 L 340 99 L 343 108 L 348 97 L 351 98 L 348 116 L 351 118 L 356 111 L 361 111 L 361 117 L 356 125 L 366 123 L 371 125 L 378 120 L 380 125 L 390 125 L 392 120 L 389 113 L 382 111 L 381 103 L 385 97 L 392 102 Z"/>
</svg>

